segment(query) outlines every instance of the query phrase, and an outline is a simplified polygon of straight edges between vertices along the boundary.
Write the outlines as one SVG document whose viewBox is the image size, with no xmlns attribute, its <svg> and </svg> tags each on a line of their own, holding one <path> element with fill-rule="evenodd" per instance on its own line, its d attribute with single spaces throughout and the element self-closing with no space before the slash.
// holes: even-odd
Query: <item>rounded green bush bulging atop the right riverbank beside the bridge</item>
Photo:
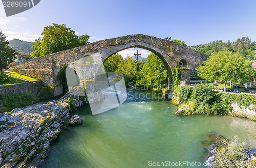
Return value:
<svg viewBox="0 0 256 168">
<path fill-rule="evenodd" d="M 193 97 L 198 103 L 209 103 L 211 104 L 214 98 L 214 93 L 210 90 L 208 83 L 200 83 L 193 88 Z"/>
</svg>

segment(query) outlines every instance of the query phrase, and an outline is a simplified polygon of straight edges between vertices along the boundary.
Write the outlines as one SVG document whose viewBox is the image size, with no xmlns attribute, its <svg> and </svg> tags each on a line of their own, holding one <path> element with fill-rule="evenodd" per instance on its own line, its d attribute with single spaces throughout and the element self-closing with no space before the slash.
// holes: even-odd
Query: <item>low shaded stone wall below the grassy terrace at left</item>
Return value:
<svg viewBox="0 0 256 168">
<path fill-rule="evenodd" d="M 3 95 L 8 95 L 8 94 L 23 94 L 23 93 L 30 93 L 33 95 L 36 95 L 40 91 L 40 85 L 41 81 L 30 81 L 30 82 L 24 82 L 24 83 L 17 83 L 13 85 L 5 85 L 5 86 L 0 86 L 0 93 Z"/>
</svg>

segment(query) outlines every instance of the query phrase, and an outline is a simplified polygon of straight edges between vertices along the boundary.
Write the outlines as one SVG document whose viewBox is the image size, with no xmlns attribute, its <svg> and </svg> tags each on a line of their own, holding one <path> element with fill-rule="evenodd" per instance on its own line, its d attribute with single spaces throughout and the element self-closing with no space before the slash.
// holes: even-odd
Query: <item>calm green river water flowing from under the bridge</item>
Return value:
<svg viewBox="0 0 256 168">
<path fill-rule="evenodd" d="M 256 154 L 256 122 L 230 116 L 177 117 L 177 106 L 168 100 L 135 98 L 134 92 L 105 113 L 93 116 L 89 105 L 73 111 L 83 124 L 62 130 L 39 167 L 149 167 L 149 161 L 200 162 L 202 166 L 194 167 L 204 167 L 210 133 L 228 139 L 238 135 Z"/>
</svg>

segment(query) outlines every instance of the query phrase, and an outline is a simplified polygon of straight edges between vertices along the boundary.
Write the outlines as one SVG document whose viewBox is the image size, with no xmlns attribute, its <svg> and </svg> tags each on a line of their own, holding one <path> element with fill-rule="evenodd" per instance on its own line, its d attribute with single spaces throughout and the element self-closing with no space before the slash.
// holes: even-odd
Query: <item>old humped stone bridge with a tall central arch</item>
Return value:
<svg viewBox="0 0 256 168">
<path fill-rule="evenodd" d="M 114 53 L 132 47 L 139 47 L 156 53 L 167 69 L 169 81 L 172 80 L 171 69 L 174 68 L 176 64 L 179 64 L 180 61 L 182 61 L 184 67 L 189 68 L 189 70 L 186 70 L 186 73 L 190 74 L 208 58 L 208 55 L 184 47 L 175 42 L 139 34 L 100 40 L 31 60 L 12 63 L 9 65 L 8 71 L 41 79 L 45 86 L 52 85 L 55 87 L 54 95 L 57 96 L 62 94 L 62 88 L 58 87 L 58 81 L 55 81 L 60 70 L 59 65 L 64 63 L 71 64 L 76 60 L 94 53 L 100 53 L 102 61 L 104 62 Z M 183 77 L 183 80 L 189 80 L 189 75 L 183 76 L 188 76 Z"/>
</svg>

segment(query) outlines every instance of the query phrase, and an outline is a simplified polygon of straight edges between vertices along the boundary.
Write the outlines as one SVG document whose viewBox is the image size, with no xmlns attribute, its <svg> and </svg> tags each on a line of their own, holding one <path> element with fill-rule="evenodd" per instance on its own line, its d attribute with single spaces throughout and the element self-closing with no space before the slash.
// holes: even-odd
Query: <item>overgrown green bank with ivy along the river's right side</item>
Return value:
<svg viewBox="0 0 256 168">
<path fill-rule="evenodd" d="M 174 92 L 172 103 L 179 105 L 175 115 L 230 115 L 234 117 L 249 118 L 256 121 L 256 116 L 245 115 L 234 111 L 231 104 L 256 110 L 256 96 L 234 95 L 216 92 L 210 89 L 208 83 L 200 83 L 194 87 L 180 86 Z"/>
</svg>

